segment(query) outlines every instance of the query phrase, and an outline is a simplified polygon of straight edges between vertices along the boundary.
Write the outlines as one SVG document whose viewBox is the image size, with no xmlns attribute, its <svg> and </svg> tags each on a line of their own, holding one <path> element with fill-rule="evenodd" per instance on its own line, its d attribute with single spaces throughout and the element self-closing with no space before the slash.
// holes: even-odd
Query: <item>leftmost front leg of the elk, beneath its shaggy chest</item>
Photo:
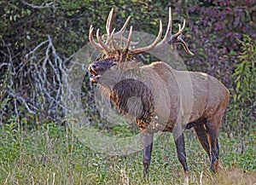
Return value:
<svg viewBox="0 0 256 185">
<path fill-rule="evenodd" d="M 141 132 L 141 136 L 143 141 L 143 177 L 145 177 L 148 174 L 150 165 L 154 134 L 144 130 Z"/>
</svg>

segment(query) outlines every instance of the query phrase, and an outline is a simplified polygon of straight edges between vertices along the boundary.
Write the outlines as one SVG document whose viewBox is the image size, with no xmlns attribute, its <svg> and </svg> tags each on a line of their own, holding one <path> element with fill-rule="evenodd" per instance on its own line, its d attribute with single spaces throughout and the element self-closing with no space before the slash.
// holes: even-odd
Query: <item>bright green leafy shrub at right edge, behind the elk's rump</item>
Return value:
<svg viewBox="0 0 256 185">
<path fill-rule="evenodd" d="M 243 36 L 241 53 L 235 61 L 235 71 L 232 74 L 233 89 L 231 89 L 228 117 L 234 129 L 255 129 L 255 95 L 256 95 L 256 42 Z M 244 123 L 243 127 L 239 125 Z M 244 131 L 244 130 L 241 130 Z"/>
</svg>

